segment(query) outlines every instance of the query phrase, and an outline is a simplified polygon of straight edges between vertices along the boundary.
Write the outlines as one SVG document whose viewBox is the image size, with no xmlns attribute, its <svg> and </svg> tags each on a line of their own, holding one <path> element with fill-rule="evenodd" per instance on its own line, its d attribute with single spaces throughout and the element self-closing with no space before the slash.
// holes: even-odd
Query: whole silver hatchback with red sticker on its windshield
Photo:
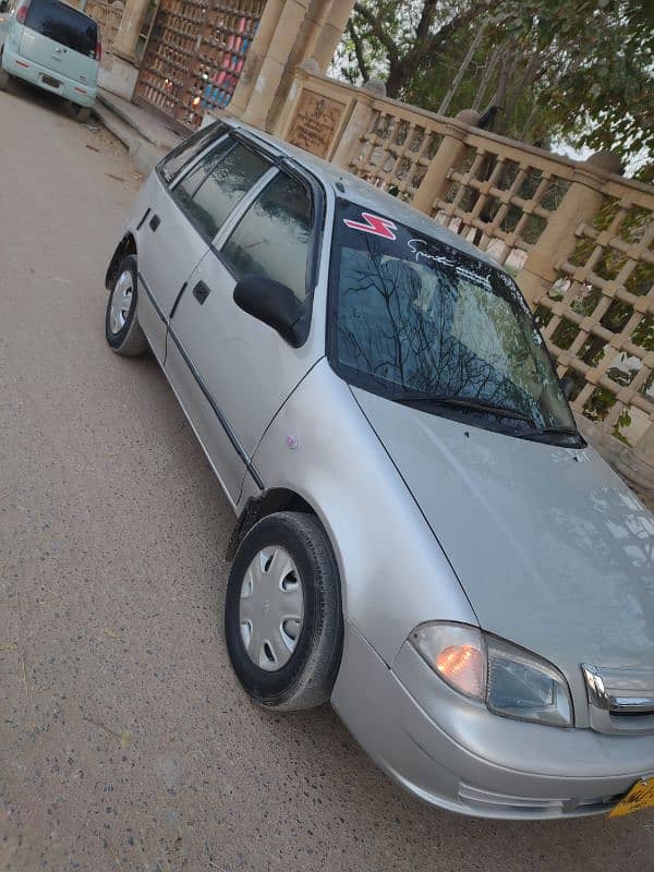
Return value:
<svg viewBox="0 0 654 872">
<path fill-rule="evenodd" d="M 513 279 L 216 123 L 143 186 L 106 335 L 152 349 L 238 516 L 225 633 L 465 814 L 654 804 L 654 519 L 580 436 Z"/>
</svg>

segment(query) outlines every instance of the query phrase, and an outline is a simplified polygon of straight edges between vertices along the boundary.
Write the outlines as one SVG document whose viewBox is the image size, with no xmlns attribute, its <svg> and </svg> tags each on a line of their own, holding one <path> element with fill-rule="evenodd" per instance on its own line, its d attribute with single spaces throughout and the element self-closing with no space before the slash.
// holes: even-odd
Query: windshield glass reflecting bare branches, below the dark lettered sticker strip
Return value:
<svg viewBox="0 0 654 872">
<path fill-rule="evenodd" d="M 561 419 L 572 425 L 531 317 L 492 269 L 475 274 L 475 262 L 453 250 L 413 259 L 401 240 L 366 239 L 360 247 L 356 237 L 358 247 L 346 243 L 340 252 L 342 364 L 391 392 L 475 399 L 524 413 L 538 426 Z"/>
</svg>

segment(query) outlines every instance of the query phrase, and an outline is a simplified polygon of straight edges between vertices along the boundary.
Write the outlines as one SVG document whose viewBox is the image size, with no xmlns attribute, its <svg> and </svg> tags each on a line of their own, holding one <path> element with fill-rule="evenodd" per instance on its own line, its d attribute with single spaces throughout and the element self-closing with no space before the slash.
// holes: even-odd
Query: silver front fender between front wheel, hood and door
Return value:
<svg viewBox="0 0 654 872">
<path fill-rule="evenodd" d="M 253 463 L 266 488 L 293 492 L 318 516 L 341 576 L 343 617 L 387 664 L 423 621 L 476 623 L 419 506 L 326 359 L 278 412 Z M 246 476 L 239 509 L 257 496 Z"/>
</svg>

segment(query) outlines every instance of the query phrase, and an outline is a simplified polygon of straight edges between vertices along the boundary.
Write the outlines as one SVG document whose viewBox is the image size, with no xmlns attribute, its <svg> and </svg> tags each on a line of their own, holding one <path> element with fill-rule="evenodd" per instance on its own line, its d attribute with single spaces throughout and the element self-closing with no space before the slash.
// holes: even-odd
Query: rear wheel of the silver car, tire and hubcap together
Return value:
<svg viewBox="0 0 654 872">
<path fill-rule="evenodd" d="M 113 287 L 107 301 L 105 336 L 117 354 L 137 358 L 147 351 L 147 339 L 136 317 L 138 283 L 136 257 L 131 254 L 116 270 Z"/>
</svg>

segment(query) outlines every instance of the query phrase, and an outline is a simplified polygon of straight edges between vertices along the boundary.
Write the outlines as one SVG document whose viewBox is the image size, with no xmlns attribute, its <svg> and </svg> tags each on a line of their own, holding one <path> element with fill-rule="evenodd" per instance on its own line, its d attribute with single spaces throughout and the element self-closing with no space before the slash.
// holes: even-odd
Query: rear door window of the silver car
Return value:
<svg viewBox="0 0 654 872">
<path fill-rule="evenodd" d="M 226 142 L 232 143 L 229 137 Z M 211 240 L 225 220 L 270 169 L 270 161 L 243 145 L 214 150 L 185 175 L 172 194 L 198 231 Z"/>
</svg>

